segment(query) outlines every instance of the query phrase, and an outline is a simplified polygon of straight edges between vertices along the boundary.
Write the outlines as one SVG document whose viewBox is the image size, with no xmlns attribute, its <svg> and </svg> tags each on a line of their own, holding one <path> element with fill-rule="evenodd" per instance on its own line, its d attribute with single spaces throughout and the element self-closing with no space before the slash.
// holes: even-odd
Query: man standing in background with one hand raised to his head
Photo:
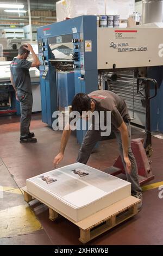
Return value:
<svg viewBox="0 0 163 256">
<path fill-rule="evenodd" d="M 32 53 L 33 62 L 27 60 L 29 52 Z M 34 132 L 29 131 L 33 105 L 29 69 L 39 65 L 39 58 L 30 44 L 20 46 L 17 58 L 14 58 L 10 65 L 10 80 L 15 89 L 16 99 L 20 101 L 21 106 L 21 143 L 37 142 L 37 139 L 34 138 Z"/>
</svg>

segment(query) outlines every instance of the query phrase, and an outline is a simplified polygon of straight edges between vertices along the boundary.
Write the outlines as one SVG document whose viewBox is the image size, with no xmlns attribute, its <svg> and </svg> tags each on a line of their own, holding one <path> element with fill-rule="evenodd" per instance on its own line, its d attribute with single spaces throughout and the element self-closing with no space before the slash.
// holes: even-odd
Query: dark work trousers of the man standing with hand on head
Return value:
<svg viewBox="0 0 163 256">
<path fill-rule="evenodd" d="M 17 90 L 17 96 L 21 106 L 21 135 L 20 137 L 27 138 L 29 135 L 29 126 L 32 116 L 33 96 L 32 93 L 25 93 L 22 90 Z"/>
</svg>

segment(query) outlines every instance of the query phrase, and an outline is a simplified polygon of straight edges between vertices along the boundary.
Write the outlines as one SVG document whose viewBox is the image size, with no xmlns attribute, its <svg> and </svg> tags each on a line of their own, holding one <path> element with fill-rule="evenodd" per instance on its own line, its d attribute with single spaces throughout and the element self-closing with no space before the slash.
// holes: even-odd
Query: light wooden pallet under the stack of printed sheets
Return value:
<svg viewBox="0 0 163 256">
<path fill-rule="evenodd" d="M 71 218 L 62 214 L 62 212 L 55 209 L 52 205 L 48 205 L 41 198 L 35 197 L 34 194 L 29 193 L 26 187 L 23 187 L 24 200 L 30 202 L 33 199 L 39 200 L 49 208 L 49 219 L 55 221 L 59 215 L 64 216 L 67 220 L 76 224 L 80 228 L 79 241 L 82 243 L 89 242 L 95 237 L 103 234 L 105 231 L 114 228 L 116 225 L 128 220 L 138 213 L 137 204 L 140 199 L 129 196 L 123 200 L 108 206 L 107 208 L 96 212 L 82 221 L 73 221 Z"/>
</svg>

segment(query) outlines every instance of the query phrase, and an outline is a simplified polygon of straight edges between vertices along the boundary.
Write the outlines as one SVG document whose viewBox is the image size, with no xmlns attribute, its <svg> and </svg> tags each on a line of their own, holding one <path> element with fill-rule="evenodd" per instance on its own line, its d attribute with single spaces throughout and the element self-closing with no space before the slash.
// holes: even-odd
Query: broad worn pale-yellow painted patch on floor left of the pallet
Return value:
<svg viewBox="0 0 163 256">
<path fill-rule="evenodd" d="M 0 238 L 28 234 L 42 229 L 41 223 L 27 205 L 0 211 Z"/>
</svg>

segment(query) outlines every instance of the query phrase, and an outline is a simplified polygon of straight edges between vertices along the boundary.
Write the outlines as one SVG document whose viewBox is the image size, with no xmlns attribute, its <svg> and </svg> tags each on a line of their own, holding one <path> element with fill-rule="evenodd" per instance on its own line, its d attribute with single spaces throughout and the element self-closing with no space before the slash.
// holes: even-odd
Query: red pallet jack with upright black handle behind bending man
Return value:
<svg viewBox="0 0 163 256">
<path fill-rule="evenodd" d="M 149 96 L 150 82 L 154 84 L 155 94 Z M 140 92 L 140 86 L 143 86 L 145 95 Z M 147 183 L 154 179 L 152 169 L 148 157 L 152 156 L 152 138 L 151 138 L 151 115 L 150 115 L 150 100 L 157 94 L 158 83 L 156 80 L 146 77 L 137 78 L 137 93 L 140 93 L 142 98 L 142 106 L 146 107 L 146 137 L 145 141 L 143 138 L 131 139 L 131 149 L 136 159 L 137 170 L 139 175 L 140 185 Z M 121 160 L 121 156 L 115 160 L 113 166 L 105 170 L 106 173 L 111 175 L 126 174 Z"/>
</svg>

